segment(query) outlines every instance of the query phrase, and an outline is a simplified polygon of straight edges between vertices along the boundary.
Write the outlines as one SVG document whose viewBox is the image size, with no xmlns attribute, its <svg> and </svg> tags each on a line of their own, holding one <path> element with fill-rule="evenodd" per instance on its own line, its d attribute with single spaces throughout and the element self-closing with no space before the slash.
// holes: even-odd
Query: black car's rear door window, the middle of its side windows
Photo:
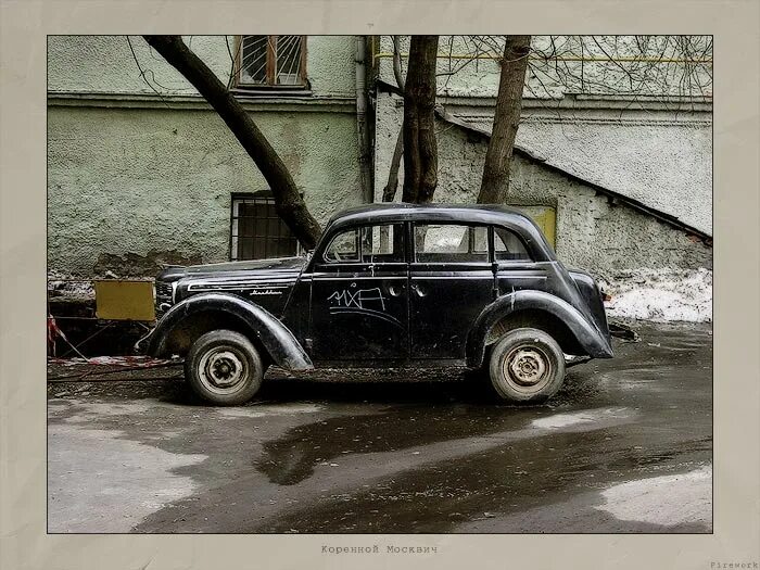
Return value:
<svg viewBox="0 0 760 570">
<path fill-rule="evenodd" d="M 487 262 L 487 228 L 455 224 L 415 225 L 415 258 L 421 263 Z"/>
</svg>

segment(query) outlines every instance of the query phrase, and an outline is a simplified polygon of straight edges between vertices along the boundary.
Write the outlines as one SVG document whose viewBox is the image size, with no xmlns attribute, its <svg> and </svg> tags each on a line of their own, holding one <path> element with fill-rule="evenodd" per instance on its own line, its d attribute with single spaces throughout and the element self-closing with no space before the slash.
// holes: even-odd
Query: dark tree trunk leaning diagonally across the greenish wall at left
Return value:
<svg viewBox="0 0 760 570">
<path fill-rule="evenodd" d="M 275 197 L 277 214 L 305 249 L 314 249 L 321 233 L 321 227 L 306 208 L 288 167 L 258 130 L 249 113 L 206 64 L 188 49 L 180 36 L 143 36 L 143 38 L 182 74 L 218 113 L 269 185 Z"/>
</svg>

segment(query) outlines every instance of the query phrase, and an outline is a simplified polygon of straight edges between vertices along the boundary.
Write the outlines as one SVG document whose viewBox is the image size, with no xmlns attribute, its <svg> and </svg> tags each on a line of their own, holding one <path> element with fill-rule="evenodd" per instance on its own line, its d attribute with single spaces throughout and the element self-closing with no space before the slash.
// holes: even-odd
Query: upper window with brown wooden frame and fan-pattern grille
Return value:
<svg viewBox="0 0 760 570">
<path fill-rule="evenodd" d="M 240 36 L 238 85 L 306 86 L 305 36 Z"/>
</svg>

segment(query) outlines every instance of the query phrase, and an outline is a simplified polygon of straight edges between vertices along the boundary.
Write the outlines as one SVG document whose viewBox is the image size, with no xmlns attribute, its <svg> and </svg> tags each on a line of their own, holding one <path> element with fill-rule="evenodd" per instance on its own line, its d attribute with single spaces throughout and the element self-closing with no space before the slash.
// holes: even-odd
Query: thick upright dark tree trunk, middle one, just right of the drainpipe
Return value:
<svg viewBox="0 0 760 570">
<path fill-rule="evenodd" d="M 404 202 L 431 202 L 438 185 L 436 54 L 438 36 L 411 36 L 404 89 Z"/>
</svg>

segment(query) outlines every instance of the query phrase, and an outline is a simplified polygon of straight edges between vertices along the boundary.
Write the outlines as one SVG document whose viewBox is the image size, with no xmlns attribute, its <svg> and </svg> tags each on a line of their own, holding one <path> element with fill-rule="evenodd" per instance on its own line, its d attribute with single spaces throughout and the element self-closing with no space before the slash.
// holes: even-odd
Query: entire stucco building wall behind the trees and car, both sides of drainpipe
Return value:
<svg viewBox="0 0 760 570">
<path fill-rule="evenodd" d="M 225 261 L 231 194 L 267 189 L 250 157 L 194 89 L 140 37 L 130 39 L 141 66 L 150 69 L 149 77 L 166 93 L 165 101 L 140 78 L 126 37 L 49 38 L 48 251 L 53 271 L 92 276 L 112 269 L 151 275 L 162 261 Z M 233 38 L 228 39 L 233 46 Z M 230 60 L 224 36 L 185 40 L 227 80 Z M 382 42 L 380 51 L 391 51 L 388 37 Z M 241 99 L 322 221 L 363 201 L 355 47 L 351 36 L 309 36 L 307 97 Z M 391 60 L 380 58 L 375 63 L 380 78 L 394 84 Z M 439 64 L 445 71 L 447 62 Z M 482 61 L 449 78 L 442 76 L 439 94 L 449 111 L 468 116 L 476 126 L 487 125 L 497 85 L 496 65 Z M 379 200 L 403 107 L 401 99 L 388 90 L 377 88 L 373 94 L 373 190 Z M 617 107 L 609 101 L 585 102 L 583 109 L 570 110 L 547 110 L 545 104 L 525 100 L 519 144 L 547 163 L 569 161 L 566 166 L 579 168 L 577 175 L 601 186 L 612 179 L 622 193 L 664 212 L 691 216 L 687 221 L 711 231 L 709 106 L 679 114 L 667 109 L 636 111 L 625 102 Z M 619 148 L 610 148 L 604 139 L 609 129 L 621 141 Z M 484 137 L 446 122 L 439 122 L 438 137 L 435 200 L 473 201 Z M 654 165 L 661 166 L 664 156 L 675 153 L 679 166 L 670 167 L 666 160 L 668 168 L 658 172 L 676 179 L 645 176 L 646 183 L 639 183 L 642 179 L 629 176 L 621 165 L 633 156 L 631 144 L 645 152 L 636 155 L 635 164 L 623 166 L 651 175 Z M 611 152 L 608 159 L 592 155 L 605 149 Z M 711 249 L 683 231 L 624 205 L 612 205 L 593 188 L 540 162 L 520 155 L 512 168 L 515 203 L 556 208 L 557 250 L 569 264 L 604 275 L 642 267 L 711 267 Z M 674 190 L 676 182 L 684 192 Z"/>
</svg>

